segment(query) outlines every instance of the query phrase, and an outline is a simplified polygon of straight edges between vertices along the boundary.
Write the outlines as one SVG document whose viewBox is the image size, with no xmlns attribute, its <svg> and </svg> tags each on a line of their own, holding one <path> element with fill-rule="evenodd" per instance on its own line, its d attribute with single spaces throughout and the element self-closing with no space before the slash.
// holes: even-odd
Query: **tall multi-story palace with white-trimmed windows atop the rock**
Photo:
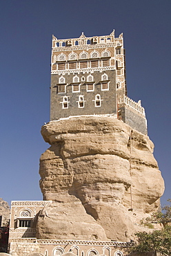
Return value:
<svg viewBox="0 0 171 256">
<path fill-rule="evenodd" d="M 147 134 L 141 101 L 127 96 L 123 34 L 52 37 L 50 120 L 111 115 Z"/>
</svg>

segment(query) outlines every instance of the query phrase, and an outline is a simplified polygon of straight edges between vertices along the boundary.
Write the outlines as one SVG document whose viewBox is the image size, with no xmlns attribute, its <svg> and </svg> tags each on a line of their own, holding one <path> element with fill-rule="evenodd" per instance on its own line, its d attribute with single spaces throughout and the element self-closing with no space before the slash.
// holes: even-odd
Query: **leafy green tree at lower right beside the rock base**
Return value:
<svg viewBox="0 0 171 256">
<path fill-rule="evenodd" d="M 171 203 L 171 199 L 168 199 Z M 138 242 L 128 248 L 128 253 L 161 253 L 171 255 L 171 205 L 165 205 L 161 211 L 152 214 L 152 217 L 142 223 L 161 223 L 161 230 L 152 232 L 137 232 Z"/>
</svg>

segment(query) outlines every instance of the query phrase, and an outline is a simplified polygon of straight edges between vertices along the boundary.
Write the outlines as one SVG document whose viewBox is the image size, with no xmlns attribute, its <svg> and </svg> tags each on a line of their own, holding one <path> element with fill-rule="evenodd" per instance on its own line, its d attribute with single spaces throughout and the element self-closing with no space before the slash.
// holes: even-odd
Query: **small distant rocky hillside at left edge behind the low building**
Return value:
<svg viewBox="0 0 171 256">
<path fill-rule="evenodd" d="M 0 198 L 1 226 L 6 226 L 10 220 L 10 206 Z"/>
</svg>

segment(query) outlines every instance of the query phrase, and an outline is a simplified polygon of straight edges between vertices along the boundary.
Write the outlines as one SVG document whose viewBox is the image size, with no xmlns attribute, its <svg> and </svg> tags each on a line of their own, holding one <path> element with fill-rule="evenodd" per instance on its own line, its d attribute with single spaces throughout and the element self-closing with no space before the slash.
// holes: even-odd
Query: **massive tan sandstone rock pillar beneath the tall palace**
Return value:
<svg viewBox="0 0 171 256">
<path fill-rule="evenodd" d="M 41 134 L 40 187 L 54 201 L 39 215 L 41 239 L 129 241 L 159 207 L 164 183 L 148 136 L 110 117 L 51 121 Z"/>
</svg>

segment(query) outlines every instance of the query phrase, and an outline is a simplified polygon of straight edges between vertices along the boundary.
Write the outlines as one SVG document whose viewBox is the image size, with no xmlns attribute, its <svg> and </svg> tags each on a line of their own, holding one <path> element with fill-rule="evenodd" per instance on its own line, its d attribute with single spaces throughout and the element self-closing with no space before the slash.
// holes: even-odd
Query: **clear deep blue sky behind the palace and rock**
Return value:
<svg viewBox="0 0 171 256">
<path fill-rule="evenodd" d="M 171 198 L 171 1 L 0 0 L 0 197 L 41 200 L 40 134 L 50 118 L 50 55 L 57 38 L 123 33 L 128 96 L 141 99 Z"/>
</svg>

